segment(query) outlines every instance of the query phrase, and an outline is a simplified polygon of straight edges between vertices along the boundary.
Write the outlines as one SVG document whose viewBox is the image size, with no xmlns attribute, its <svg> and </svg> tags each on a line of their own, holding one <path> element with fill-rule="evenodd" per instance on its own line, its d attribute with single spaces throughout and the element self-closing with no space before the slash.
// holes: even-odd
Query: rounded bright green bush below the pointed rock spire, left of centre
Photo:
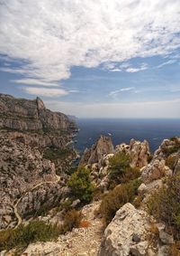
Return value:
<svg viewBox="0 0 180 256">
<path fill-rule="evenodd" d="M 92 200 L 94 185 L 91 183 L 90 171 L 85 166 L 77 168 L 76 172 L 70 176 L 67 185 L 73 198 L 83 203 L 89 203 Z"/>
</svg>

